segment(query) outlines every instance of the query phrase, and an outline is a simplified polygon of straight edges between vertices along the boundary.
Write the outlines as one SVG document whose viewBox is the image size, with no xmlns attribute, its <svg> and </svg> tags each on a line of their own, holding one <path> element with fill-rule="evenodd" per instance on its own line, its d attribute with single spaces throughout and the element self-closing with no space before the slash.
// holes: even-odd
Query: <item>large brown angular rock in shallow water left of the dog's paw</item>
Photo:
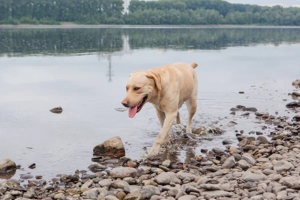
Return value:
<svg viewBox="0 0 300 200">
<path fill-rule="evenodd" d="M 93 152 L 97 155 L 125 155 L 125 148 L 120 137 L 111 137 L 96 145 Z"/>
</svg>

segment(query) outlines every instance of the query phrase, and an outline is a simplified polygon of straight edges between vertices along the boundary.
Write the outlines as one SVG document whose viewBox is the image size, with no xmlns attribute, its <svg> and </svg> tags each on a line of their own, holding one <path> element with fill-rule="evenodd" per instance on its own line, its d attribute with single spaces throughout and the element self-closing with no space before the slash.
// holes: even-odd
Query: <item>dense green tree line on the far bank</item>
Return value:
<svg viewBox="0 0 300 200">
<path fill-rule="evenodd" d="M 300 25 L 300 8 L 223 0 L 0 0 L 0 23 Z"/>
</svg>

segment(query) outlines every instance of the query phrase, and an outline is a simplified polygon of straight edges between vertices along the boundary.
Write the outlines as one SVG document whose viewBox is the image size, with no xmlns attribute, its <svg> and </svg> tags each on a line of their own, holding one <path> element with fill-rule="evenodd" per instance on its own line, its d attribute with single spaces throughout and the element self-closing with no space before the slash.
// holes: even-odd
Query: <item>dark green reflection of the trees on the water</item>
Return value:
<svg viewBox="0 0 300 200">
<path fill-rule="evenodd" d="M 224 49 L 300 43 L 297 28 L 38 28 L 0 29 L 0 56 L 70 55 L 130 49 Z"/>
</svg>

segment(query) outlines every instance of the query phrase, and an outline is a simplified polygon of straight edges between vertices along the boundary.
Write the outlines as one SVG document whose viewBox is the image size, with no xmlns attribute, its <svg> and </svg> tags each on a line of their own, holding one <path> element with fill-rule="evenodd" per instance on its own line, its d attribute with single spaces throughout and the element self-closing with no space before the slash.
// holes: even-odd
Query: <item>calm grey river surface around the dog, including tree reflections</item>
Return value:
<svg viewBox="0 0 300 200">
<path fill-rule="evenodd" d="M 263 124 L 253 113 L 230 115 L 231 107 L 294 115 L 284 105 L 300 78 L 299 52 L 299 28 L 0 29 L 0 158 L 22 165 L 15 178 L 31 172 L 50 179 L 86 169 L 96 144 L 120 136 L 126 156 L 139 159 L 160 125 L 151 104 L 134 118 L 115 110 L 128 74 L 178 61 L 199 64 L 193 127 L 226 132 L 163 159 L 188 161 L 201 148 L 224 148 L 225 138 L 236 144 L 234 130 L 261 131 Z M 48 111 L 55 106 L 63 112 Z M 185 124 L 185 106 L 180 111 Z M 32 162 L 36 168 L 27 168 Z"/>
</svg>

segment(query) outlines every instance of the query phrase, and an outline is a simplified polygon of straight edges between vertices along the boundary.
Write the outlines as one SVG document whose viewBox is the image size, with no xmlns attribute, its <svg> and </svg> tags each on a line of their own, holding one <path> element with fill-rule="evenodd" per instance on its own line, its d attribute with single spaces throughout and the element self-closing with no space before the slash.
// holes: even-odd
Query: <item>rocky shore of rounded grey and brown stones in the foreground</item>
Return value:
<svg viewBox="0 0 300 200">
<path fill-rule="evenodd" d="M 230 114 L 255 117 L 268 128 L 263 136 L 256 131 L 235 132 L 238 145 L 201 149 L 188 163 L 172 160 L 131 160 L 128 157 L 96 156 L 98 163 L 89 171 L 57 174 L 50 181 L 42 176 L 21 175 L 19 180 L 0 183 L 0 199 L 300 199 L 300 103 L 286 104 L 293 118 L 272 116 L 266 111 L 241 105 L 231 108 Z M 94 148 L 94 152 L 124 154 L 120 138 L 114 137 Z M 107 151 L 108 150 L 108 151 Z M 107 168 L 103 162 L 115 163 Z M 4 168 L 6 167 L 6 168 Z M 9 159 L 0 161 L 0 170 L 15 170 Z"/>
</svg>

